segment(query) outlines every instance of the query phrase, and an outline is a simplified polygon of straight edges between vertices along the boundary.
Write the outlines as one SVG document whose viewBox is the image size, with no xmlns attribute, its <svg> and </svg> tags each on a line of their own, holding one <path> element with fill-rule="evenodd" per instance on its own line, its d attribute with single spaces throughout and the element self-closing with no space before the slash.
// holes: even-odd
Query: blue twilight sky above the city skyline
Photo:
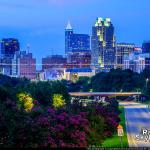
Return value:
<svg viewBox="0 0 150 150">
<path fill-rule="evenodd" d="M 37 62 L 64 54 L 64 29 L 91 35 L 97 17 L 110 17 L 117 42 L 141 46 L 150 40 L 150 0 L 0 0 L 0 39 L 15 37 L 21 50 L 30 44 Z"/>
</svg>

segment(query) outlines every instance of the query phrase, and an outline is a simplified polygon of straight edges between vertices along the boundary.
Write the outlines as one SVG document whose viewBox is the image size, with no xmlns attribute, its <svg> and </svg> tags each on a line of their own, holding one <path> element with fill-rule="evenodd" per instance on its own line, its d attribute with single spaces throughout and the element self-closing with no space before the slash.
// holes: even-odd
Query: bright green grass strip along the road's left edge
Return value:
<svg viewBox="0 0 150 150">
<path fill-rule="evenodd" d="M 124 128 L 124 136 L 122 137 L 122 142 L 123 142 L 123 147 L 128 147 L 128 140 L 127 140 L 127 135 L 126 135 L 126 127 L 125 127 L 125 113 L 124 113 L 124 107 L 120 106 L 120 111 L 122 112 L 120 114 L 121 122 L 120 124 Z M 118 137 L 117 134 L 115 134 L 112 138 L 108 138 L 104 141 L 102 144 L 102 147 L 108 147 L 108 148 L 113 148 L 113 147 L 121 147 L 120 143 L 120 137 Z"/>
</svg>

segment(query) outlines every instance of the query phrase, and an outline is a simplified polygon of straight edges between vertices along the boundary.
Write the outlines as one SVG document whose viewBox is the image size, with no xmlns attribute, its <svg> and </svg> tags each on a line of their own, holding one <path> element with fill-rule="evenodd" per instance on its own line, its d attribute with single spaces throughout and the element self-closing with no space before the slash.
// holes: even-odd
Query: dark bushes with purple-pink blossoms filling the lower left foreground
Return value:
<svg viewBox="0 0 150 150">
<path fill-rule="evenodd" d="M 24 94 L 20 95 L 24 97 Z M 35 101 L 28 113 L 14 102 L 0 104 L 0 147 L 87 147 L 89 122 L 86 113 L 68 114 L 64 109 L 41 107 Z"/>
</svg>

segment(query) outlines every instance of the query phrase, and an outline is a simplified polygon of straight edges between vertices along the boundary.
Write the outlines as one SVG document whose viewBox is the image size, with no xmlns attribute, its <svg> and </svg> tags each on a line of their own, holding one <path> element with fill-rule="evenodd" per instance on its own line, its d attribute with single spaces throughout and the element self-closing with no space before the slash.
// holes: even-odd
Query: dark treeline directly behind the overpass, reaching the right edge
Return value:
<svg viewBox="0 0 150 150">
<path fill-rule="evenodd" d="M 101 72 L 92 78 L 80 77 L 76 83 L 71 83 L 70 91 L 93 92 L 137 92 L 150 97 L 150 70 L 135 73 L 131 70 L 112 69 Z"/>
</svg>

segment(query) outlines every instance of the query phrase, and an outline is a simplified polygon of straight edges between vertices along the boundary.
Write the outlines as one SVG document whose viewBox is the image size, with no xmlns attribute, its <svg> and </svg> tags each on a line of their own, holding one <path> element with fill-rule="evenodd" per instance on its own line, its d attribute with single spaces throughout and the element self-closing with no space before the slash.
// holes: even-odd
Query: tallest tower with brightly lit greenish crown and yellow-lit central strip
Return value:
<svg viewBox="0 0 150 150">
<path fill-rule="evenodd" d="M 115 63 L 114 26 L 110 18 L 97 18 L 92 27 L 92 67 L 109 71 Z"/>
</svg>

